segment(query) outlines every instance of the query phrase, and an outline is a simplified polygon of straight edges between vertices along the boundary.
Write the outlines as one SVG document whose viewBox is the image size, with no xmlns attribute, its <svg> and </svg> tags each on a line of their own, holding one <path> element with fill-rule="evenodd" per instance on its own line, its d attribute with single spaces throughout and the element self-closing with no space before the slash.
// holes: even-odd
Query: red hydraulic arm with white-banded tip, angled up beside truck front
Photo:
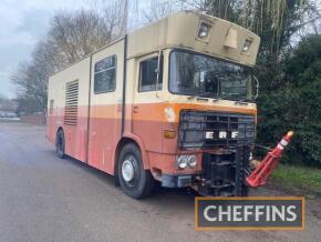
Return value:
<svg viewBox="0 0 321 242">
<path fill-rule="evenodd" d="M 269 151 L 265 160 L 253 170 L 253 172 L 246 179 L 247 183 L 252 188 L 258 188 L 266 184 L 275 168 L 280 161 L 281 154 L 288 143 L 291 141 L 294 132 L 289 131 L 278 145 Z"/>
</svg>

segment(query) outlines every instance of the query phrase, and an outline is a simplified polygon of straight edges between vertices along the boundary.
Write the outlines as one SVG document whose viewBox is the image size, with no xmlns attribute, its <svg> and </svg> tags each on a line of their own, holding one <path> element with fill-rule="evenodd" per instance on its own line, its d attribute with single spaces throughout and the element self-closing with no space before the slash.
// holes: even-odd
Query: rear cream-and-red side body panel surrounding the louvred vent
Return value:
<svg viewBox="0 0 321 242">
<path fill-rule="evenodd" d="M 51 77 L 48 88 L 46 137 L 54 143 L 58 129 L 62 128 L 65 153 L 83 162 L 86 160 L 87 145 L 89 80 L 90 57 Z M 66 83 L 72 81 L 79 82 L 76 125 L 64 123 Z"/>
</svg>

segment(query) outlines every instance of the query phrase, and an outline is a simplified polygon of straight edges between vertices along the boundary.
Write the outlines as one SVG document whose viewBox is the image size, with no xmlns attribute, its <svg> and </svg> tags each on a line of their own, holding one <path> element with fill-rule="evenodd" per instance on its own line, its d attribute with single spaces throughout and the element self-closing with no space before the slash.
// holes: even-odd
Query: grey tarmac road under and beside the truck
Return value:
<svg viewBox="0 0 321 242">
<path fill-rule="evenodd" d="M 60 160 L 44 128 L 0 123 L 0 241 L 320 241 L 319 201 L 308 201 L 306 231 L 194 229 L 194 196 L 159 189 L 135 201 L 113 178 Z M 282 195 L 261 189 L 255 195 Z"/>
</svg>

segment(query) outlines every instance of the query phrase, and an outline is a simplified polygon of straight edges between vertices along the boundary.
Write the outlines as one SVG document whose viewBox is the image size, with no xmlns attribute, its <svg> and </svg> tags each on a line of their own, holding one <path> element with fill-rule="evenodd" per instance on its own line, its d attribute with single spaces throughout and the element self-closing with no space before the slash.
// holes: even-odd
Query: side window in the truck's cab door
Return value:
<svg viewBox="0 0 321 242">
<path fill-rule="evenodd" d="M 139 92 L 156 91 L 158 57 L 144 60 L 139 64 Z M 158 88 L 163 87 L 163 58 L 161 57 Z"/>
</svg>

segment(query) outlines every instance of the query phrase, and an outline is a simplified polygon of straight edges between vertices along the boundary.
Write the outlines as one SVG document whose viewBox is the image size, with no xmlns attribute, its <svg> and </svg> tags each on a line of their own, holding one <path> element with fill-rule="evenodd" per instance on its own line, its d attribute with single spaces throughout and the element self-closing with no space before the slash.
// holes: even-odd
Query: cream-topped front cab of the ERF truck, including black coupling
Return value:
<svg viewBox="0 0 321 242">
<path fill-rule="evenodd" d="M 148 42 L 144 52 L 138 39 Z M 239 26 L 195 12 L 128 36 L 136 65 L 131 133 L 144 143 L 146 168 L 163 186 L 247 194 L 259 42 Z"/>
</svg>

